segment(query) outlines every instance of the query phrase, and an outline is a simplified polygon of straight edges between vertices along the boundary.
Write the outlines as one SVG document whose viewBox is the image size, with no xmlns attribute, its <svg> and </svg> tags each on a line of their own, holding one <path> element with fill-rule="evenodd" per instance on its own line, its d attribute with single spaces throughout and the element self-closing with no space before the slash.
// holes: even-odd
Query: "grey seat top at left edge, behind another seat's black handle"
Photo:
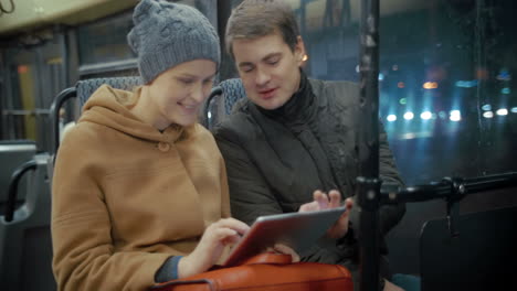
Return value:
<svg viewBox="0 0 517 291">
<path fill-rule="evenodd" d="M 4 214 L 8 200 L 8 190 L 11 175 L 22 163 L 33 159 L 36 153 L 36 143 L 32 140 L 1 140 L 0 141 L 0 215 Z M 25 198 L 27 182 L 20 183 L 20 194 L 17 205 L 21 205 Z"/>
</svg>

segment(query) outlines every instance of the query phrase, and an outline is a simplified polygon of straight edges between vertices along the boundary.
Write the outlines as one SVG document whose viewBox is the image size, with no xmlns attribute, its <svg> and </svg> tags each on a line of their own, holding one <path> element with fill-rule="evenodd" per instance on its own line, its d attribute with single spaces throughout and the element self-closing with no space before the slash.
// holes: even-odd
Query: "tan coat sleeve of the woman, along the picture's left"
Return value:
<svg viewBox="0 0 517 291">
<path fill-rule="evenodd" d="M 101 170 L 77 133 L 65 137 L 53 177 L 52 267 L 59 290 L 146 290 L 173 254 L 114 251 L 109 212 L 95 179 Z"/>
</svg>

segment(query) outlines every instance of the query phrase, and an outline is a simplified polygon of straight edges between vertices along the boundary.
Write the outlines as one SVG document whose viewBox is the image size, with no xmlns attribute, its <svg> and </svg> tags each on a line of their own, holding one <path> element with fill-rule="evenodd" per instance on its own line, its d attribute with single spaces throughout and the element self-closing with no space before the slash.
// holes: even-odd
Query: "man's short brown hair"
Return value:
<svg viewBox="0 0 517 291">
<path fill-rule="evenodd" d="M 282 0 L 244 0 L 228 20 L 224 35 L 226 52 L 234 58 L 234 40 L 253 40 L 275 32 L 281 33 L 294 52 L 299 30 L 292 8 Z"/>
</svg>

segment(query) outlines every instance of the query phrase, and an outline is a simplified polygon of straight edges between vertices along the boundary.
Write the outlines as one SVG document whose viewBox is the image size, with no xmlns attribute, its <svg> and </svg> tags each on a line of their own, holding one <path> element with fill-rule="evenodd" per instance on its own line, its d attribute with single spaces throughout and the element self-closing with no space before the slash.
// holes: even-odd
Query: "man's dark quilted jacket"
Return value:
<svg viewBox="0 0 517 291">
<path fill-rule="evenodd" d="M 338 188 L 345 197 L 356 191 L 359 88 L 349 82 L 308 80 L 282 108 L 264 110 L 240 100 L 214 130 L 224 157 L 232 215 L 247 224 L 260 215 L 297 212 L 315 190 Z M 380 177 L 402 184 L 386 132 L 380 134 Z M 381 234 L 397 225 L 404 205 L 382 206 Z M 352 237 L 315 246 L 303 260 L 341 263 L 357 269 L 357 207 L 351 213 Z M 387 254 L 381 244 L 381 254 Z M 389 277 L 387 267 L 381 272 Z"/>
</svg>

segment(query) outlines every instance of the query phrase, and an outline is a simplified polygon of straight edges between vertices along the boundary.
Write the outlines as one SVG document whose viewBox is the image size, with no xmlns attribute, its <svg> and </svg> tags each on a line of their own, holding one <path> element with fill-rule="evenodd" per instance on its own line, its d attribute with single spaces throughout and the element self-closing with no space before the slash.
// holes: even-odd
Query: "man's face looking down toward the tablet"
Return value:
<svg viewBox="0 0 517 291">
<path fill-rule="evenodd" d="M 298 90 L 305 54 L 302 37 L 298 36 L 294 52 L 277 32 L 253 40 L 234 40 L 232 50 L 247 98 L 257 106 L 276 109 Z"/>
</svg>

